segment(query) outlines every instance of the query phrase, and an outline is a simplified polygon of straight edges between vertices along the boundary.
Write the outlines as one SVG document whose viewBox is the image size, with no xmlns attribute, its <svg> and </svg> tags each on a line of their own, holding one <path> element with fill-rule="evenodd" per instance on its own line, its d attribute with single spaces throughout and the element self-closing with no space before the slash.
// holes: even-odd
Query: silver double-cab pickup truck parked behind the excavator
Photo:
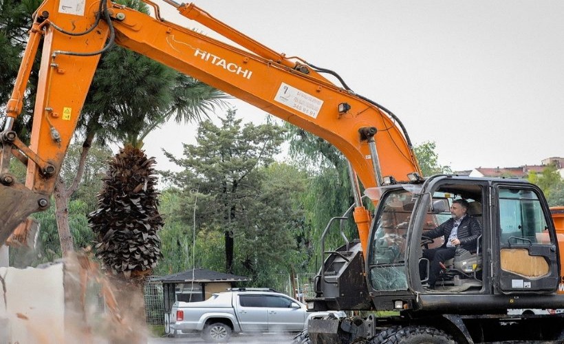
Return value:
<svg viewBox="0 0 564 344">
<path fill-rule="evenodd" d="M 176 301 L 171 310 L 171 335 L 200 332 L 206 341 L 225 342 L 239 332 L 300 332 L 305 305 L 268 289 L 239 288 L 213 294 L 206 301 Z"/>
</svg>

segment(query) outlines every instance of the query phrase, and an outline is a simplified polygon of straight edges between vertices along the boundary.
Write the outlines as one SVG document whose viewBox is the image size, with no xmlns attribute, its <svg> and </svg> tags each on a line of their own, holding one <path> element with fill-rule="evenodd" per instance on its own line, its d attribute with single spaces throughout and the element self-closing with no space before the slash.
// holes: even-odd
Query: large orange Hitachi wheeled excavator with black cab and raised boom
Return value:
<svg viewBox="0 0 564 344">
<path fill-rule="evenodd" d="M 402 122 L 355 94 L 338 74 L 287 57 L 214 19 L 193 4 L 164 0 L 184 17 L 244 48 L 210 39 L 153 15 L 99 0 L 45 0 L 8 101 L 0 134 L 0 243 L 32 213 L 50 206 L 100 54 L 112 44 L 149 56 L 327 140 L 349 162 L 359 240 L 325 251 L 310 310 L 385 310 L 389 316 L 312 319 L 303 343 L 486 343 L 564 340 L 564 316 L 512 316 L 508 308 L 564 308 L 561 256 L 541 190 L 520 180 L 433 175 L 423 178 Z M 32 62 L 43 44 L 32 138 L 12 130 Z M 335 85 L 324 74 L 340 80 Z M 27 165 L 25 183 L 10 161 Z M 362 205 L 362 188 L 376 210 Z M 453 201 L 483 230 L 474 252 L 444 263 L 438 288 L 425 288 L 422 252 L 442 244 L 425 236 L 451 216 Z"/>
</svg>

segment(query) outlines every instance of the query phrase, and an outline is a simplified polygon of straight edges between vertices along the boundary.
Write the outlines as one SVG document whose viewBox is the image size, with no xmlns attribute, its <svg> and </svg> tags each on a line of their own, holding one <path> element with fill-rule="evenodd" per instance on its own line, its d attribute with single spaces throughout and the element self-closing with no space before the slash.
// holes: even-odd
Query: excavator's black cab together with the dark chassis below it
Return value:
<svg viewBox="0 0 564 344">
<path fill-rule="evenodd" d="M 354 241 L 327 251 L 316 278 L 316 297 L 306 299 L 307 307 L 395 312 L 364 320 L 313 319 L 308 325 L 312 343 L 356 343 L 358 338 L 387 343 L 393 333 L 394 338 L 424 337 L 413 343 L 562 343 L 562 316 L 508 314 L 508 309 L 564 308 L 557 290 L 556 231 L 537 186 L 523 180 L 435 175 L 380 186 L 370 194 L 378 197 L 378 206 L 364 267 L 358 259 L 363 252 Z M 468 201 L 466 215 L 481 224 L 481 235 L 475 248 L 459 248 L 444 261 L 435 289 L 429 290 L 429 261 L 423 252 L 442 246 L 444 237 L 425 234 L 452 217 L 448 210 L 459 199 Z M 359 275 L 365 275 L 365 283 Z M 444 332 L 455 340 L 442 341 Z"/>
</svg>

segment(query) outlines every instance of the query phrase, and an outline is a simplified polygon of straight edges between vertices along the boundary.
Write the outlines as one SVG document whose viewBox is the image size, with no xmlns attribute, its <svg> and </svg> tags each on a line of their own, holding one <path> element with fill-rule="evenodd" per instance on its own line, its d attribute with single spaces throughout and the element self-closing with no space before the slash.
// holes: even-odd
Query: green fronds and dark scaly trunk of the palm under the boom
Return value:
<svg viewBox="0 0 564 344">
<path fill-rule="evenodd" d="M 138 0 L 126 0 L 123 3 L 129 8 L 148 12 L 147 6 Z M 111 237 L 107 233 L 115 233 L 113 239 L 131 240 L 133 243 L 138 238 L 153 233 L 156 235 L 162 225 L 157 209 L 158 192 L 153 185 L 155 162 L 141 151 L 143 138 L 170 118 L 180 122 L 206 116 L 206 111 L 221 105 L 223 98 L 224 94 L 217 89 L 121 47 L 112 48 L 102 57 L 83 112 L 90 119 L 91 130 L 100 133 L 98 129 L 105 128 L 105 138 L 124 144 L 124 148 L 114 156 L 110 164 L 111 173 L 115 175 L 107 175 L 105 178 L 104 190 L 110 193 L 100 195 L 98 211 L 90 215 L 98 243 L 105 243 L 99 245 L 97 251 L 102 261 L 113 261 L 112 248 L 131 246 L 127 242 L 114 243 L 116 246 L 109 244 L 109 241 L 105 242 Z M 135 162 L 134 159 L 138 161 Z M 131 173 L 139 179 L 122 179 L 122 176 Z M 113 193 L 114 191 L 120 191 L 122 194 Z M 135 222 L 138 223 L 138 228 L 133 231 L 133 237 L 119 235 L 120 230 L 127 229 L 122 227 L 118 217 L 113 222 L 106 222 L 104 211 L 111 209 L 116 211 L 116 214 L 120 211 L 127 213 L 128 207 L 139 205 L 135 202 L 138 202 L 140 194 L 151 200 L 141 204 L 147 208 L 143 208 L 137 215 L 153 214 L 152 222 Z M 118 208 L 114 208 L 116 206 Z M 123 209 L 120 210 L 120 207 Z M 140 219 L 148 218 L 141 216 Z M 113 261 L 107 268 L 122 277 L 146 274 L 147 270 L 155 267 L 153 258 L 160 257 L 158 237 L 151 242 L 153 246 L 142 250 L 140 255 L 129 255 L 121 264 Z M 120 257 L 125 258 L 121 255 Z"/>
</svg>

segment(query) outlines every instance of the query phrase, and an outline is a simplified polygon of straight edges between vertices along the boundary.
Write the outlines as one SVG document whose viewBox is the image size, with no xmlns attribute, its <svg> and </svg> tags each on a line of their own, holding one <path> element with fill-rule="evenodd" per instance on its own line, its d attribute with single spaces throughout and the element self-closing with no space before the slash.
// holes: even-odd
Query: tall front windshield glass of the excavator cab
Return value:
<svg viewBox="0 0 564 344">
<path fill-rule="evenodd" d="M 405 245 L 413 193 L 405 189 L 386 193 L 380 200 L 369 249 L 370 281 L 376 290 L 405 290 Z"/>
</svg>

